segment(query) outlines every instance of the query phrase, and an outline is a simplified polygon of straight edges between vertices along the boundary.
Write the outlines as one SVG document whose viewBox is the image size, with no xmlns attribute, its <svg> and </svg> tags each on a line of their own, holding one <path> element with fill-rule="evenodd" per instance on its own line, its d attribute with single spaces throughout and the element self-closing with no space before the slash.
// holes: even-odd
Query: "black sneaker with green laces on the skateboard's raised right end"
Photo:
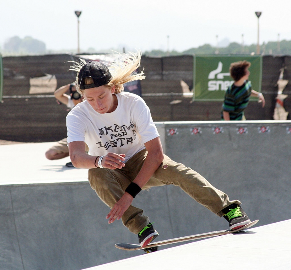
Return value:
<svg viewBox="0 0 291 270">
<path fill-rule="evenodd" d="M 229 222 L 230 230 L 236 230 L 250 223 L 250 219 L 240 205 L 232 203 L 222 209 L 223 217 Z"/>
</svg>

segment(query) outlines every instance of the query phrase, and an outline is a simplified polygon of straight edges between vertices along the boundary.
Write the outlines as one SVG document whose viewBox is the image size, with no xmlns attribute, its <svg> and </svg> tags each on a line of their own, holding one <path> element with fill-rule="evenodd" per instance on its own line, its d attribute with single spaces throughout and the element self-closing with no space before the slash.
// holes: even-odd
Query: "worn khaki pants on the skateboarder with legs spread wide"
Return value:
<svg viewBox="0 0 291 270">
<path fill-rule="evenodd" d="M 127 186 L 135 179 L 146 158 L 147 151 L 142 150 L 125 163 L 122 169 L 110 170 L 94 168 L 88 171 L 88 180 L 99 198 L 110 208 L 122 197 Z M 189 194 L 194 200 L 208 208 L 218 216 L 222 209 L 232 203 L 222 191 L 214 188 L 204 177 L 187 168 L 181 163 L 174 162 L 164 155 L 164 160 L 155 171 L 143 189 L 162 185 L 176 185 Z M 138 194 L 137 196 L 139 196 Z M 132 233 L 139 233 L 147 224 L 149 218 L 143 215 L 143 210 L 130 206 L 122 216 L 123 224 Z"/>
</svg>

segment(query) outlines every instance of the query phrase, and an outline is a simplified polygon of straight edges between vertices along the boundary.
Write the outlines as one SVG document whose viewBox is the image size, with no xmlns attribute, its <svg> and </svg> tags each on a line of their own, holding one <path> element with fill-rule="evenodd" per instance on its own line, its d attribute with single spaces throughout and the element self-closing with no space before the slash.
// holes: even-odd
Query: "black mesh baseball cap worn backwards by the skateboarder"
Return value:
<svg viewBox="0 0 291 270">
<path fill-rule="evenodd" d="M 86 77 L 91 77 L 94 84 L 85 85 Z M 106 65 L 97 61 L 89 61 L 79 71 L 78 84 L 80 89 L 95 88 L 108 84 L 111 78 L 111 73 Z"/>
</svg>

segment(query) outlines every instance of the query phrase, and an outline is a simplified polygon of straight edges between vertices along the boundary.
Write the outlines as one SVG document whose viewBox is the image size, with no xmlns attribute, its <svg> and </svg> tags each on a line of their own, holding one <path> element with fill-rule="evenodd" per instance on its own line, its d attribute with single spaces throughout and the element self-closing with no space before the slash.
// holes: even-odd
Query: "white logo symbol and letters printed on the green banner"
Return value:
<svg viewBox="0 0 291 270">
<path fill-rule="evenodd" d="M 223 64 L 221 61 L 218 62 L 217 69 L 212 70 L 208 75 L 208 91 L 223 90 L 226 91 L 227 88 L 233 83 L 233 81 L 225 81 L 224 76 L 229 77 L 230 73 L 222 73 Z M 216 80 L 215 80 L 216 76 Z"/>
</svg>

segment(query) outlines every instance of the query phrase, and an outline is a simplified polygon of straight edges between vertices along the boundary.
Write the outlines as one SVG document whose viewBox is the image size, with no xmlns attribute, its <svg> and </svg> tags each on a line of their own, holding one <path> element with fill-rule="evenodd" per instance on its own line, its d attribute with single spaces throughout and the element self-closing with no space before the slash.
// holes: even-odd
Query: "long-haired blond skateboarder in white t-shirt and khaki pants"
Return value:
<svg viewBox="0 0 291 270">
<path fill-rule="evenodd" d="M 145 79 L 143 72 L 133 74 L 141 53 L 122 57 L 109 68 L 75 62 L 77 91 L 85 101 L 67 115 L 70 159 L 76 168 L 89 169 L 91 188 L 111 208 L 108 223 L 122 219 L 140 245 L 148 245 L 158 232 L 132 202 L 142 189 L 172 184 L 226 218 L 231 230 L 249 224 L 239 200 L 229 200 L 196 171 L 164 155 L 148 106 L 140 96 L 122 91 L 124 83 Z"/>
</svg>

